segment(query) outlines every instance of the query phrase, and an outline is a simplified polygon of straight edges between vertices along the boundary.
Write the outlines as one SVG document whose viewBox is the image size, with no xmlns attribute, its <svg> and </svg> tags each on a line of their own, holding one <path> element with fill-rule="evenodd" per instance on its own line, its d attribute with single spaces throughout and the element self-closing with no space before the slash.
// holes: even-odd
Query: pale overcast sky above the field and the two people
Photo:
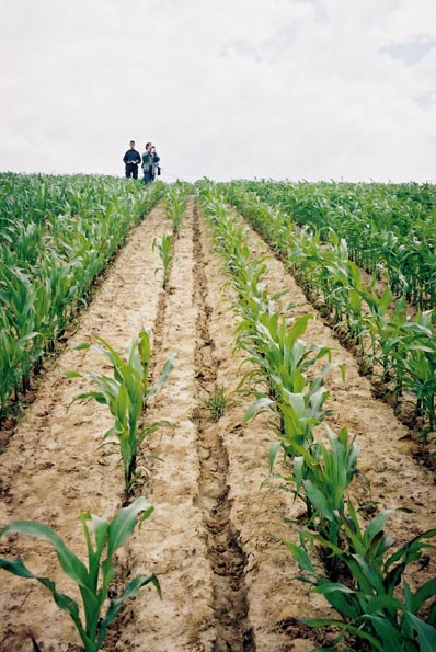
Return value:
<svg viewBox="0 0 436 652">
<path fill-rule="evenodd" d="M 435 0 L 0 0 L 0 171 L 436 182 Z"/>
</svg>

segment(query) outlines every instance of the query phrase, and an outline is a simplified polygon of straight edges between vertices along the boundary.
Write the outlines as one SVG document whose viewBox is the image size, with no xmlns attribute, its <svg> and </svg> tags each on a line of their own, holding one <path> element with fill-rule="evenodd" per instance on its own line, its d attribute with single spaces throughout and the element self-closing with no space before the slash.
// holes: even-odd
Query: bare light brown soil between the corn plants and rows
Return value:
<svg viewBox="0 0 436 652">
<path fill-rule="evenodd" d="M 142 325 L 153 333 L 157 375 L 170 353 L 177 353 L 168 384 L 147 411 L 150 422 L 168 419 L 169 428 L 144 446 L 147 469 L 137 493 L 156 511 L 118 554 L 114 592 L 128 577 L 154 572 L 162 600 L 152 587 L 142 590 L 122 611 L 107 637 L 106 652 L 308 652 L 328 643 L 322 634 L 299 625 L 301 616 L 326 616 L 329 606 L 294 581 L 298 568 L 279 538 L 295 537 L 283 517 L 298 518 L 302 506 L 292 496 L 261 490 L 268 473 L 265 416 L 242 425 L 250 400 L 232 394 L 242 356 L 232 355 L 236 317 L 229 309 L 222 261 L 211 253 L 210 236 L 190 199 L 183 229 L 175 241 L 167 293 L 161 289 L 158 254 L 151 243 L 170 230 L 161 207 L 136 228 L 105 282 L 97 289 L 69 348 L 42 381 L 0 456 L 0 527 L 31 518 L 54 527 L 82 558 L 84 544 L 77 517 L 90 511 L 105 517 L 123 501 L 123 473 L 116 456 L 97 448 L 111 426 L 106 408 L 73 403 L 90 386 L 67 379 L 64 370 L 107 369 L 106 358 L 72 347 L 97 333 L 119 352 Z M 250 232 L 253 249 L 266 250 Z M 268 261 L 272 291 L 289 288 L 291 314 L 314 313 L 280 262 Z M 308 342 L 335 348 L 334 361 L 346 364 L 346 381 L 332 375 L 330 419 L 346 425 L 362 449 L 360 471 L 371 482 L 379 506 L 409 507 L 398 513 L 390 531 L 398 541 L 434 525 L 433 474 L 411 455 L 406 428 L 392 410 L 371 396 L 352 355 L 334 341 L 322 319 L 309 323 Z M 219 421 L 211 420 L 205 399 L 222 386 L 230 400 Z M 159 457 L 159 460 L 150 456 Z M 367 502 L 364 481 L 353 487 L 355 502 Z M 56 580 L 62 577 L 46 545 L 25 537 L 1 541 L 1 556 L 21 556 L 28 567 Z M 434 567 L 426 572 L 434 571 Z M 66 613 L 39 584 L 1 572 L 0 650 L 33 652 L 28 632 L 45 652 L 74 652 L 79 639 Z"/>
</svg>

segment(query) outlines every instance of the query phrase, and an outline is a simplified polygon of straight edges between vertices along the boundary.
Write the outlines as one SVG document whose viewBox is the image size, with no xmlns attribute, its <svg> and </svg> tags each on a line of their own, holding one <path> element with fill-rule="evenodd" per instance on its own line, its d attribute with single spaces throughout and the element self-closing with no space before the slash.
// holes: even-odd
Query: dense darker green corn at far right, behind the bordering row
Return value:
<svg viewBox="0 0 436 652">
<path fill-rule="evenodd" d="M 246 182 L 244 188 L 300 227 L 331 231 L 351 260 L 421 309 L 436 302 L 436 188 L 424 184 Z"/>
</svg>

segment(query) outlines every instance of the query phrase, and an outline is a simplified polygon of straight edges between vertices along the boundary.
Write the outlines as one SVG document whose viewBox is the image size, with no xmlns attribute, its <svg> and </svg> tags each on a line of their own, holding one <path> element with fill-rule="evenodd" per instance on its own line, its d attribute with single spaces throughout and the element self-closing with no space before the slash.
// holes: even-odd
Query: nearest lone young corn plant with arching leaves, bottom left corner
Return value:
<svg viewBox="0 0 436 652">
<path fill-rule="evenodd" d="M 127 599 L 136 597 L 140 588 L 147 584 L 152 584 L 159 595 L 161 594 L 159 581 L 154 574 L 137 575 L 129 581 L 119 598 L 107 604 L 108 591 L 115 576 L 115 552 L 127 541 L 135 525 L 140 526 L 152 511 L 153 506 L 140 496 L 127 507 L 123 507 L 111 522 L 93 514 L 81 514 L 80 522 L 88 549 L 88 565 L 66 546 L 59 535 L 42 523 L 14 521 L 0 531 L 0 538 L 19 534 L 50 544 L 56 550 L 64 573 L 76 583 L 81 603 L 59 593 L 53 580 L 34 574 L 22 559 L 0 558 L 0 569 L 19 577 L 37 580 L 48 588 L 58 607 L 70 615 L 84 651 L 97 652 L 104 644 L 107 628 Z"/>
</svg>

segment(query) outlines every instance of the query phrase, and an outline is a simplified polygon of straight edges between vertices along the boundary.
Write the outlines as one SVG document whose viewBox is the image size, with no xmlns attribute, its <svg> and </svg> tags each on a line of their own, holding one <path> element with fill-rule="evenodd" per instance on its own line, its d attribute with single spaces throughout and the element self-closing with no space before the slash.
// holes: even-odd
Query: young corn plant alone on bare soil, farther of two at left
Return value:
<svg viewBox="0 0 436 652">
<path fill-rule="evenodd" d="M 147 330 L 141 330 L 139 336 L 129 343 L 126 359 L 123 359 L 102 338 L 94 335 L 94 339 L 100 342 L 100 345 L 93 345 L 93 347 L 110 359 L 113 377 L 77 371 L 68 371 L 66 375 L 68 377 L 85 377 L 97 386 L 97 391 L 81 393 L 76 397 L 74 401 L 94 399 L 99 403 L 107 405 L 111 414 L 115 417 L 115 424 L 105 433 L 103 443 L 119 449 L 124 466 L 127 501 L 136 477 L 137 454 L 140 444 L 160 425 L 169 423 L 159 421 L 141 427 L 140 419 L 149 399 L 167 381 L 174 367 L 175 355 L 168 358 L 161 376 L 153 385 L 150 385 L 151 344 Z M 90 346 L 91 344 L 84 343 L 77 348 L 87 350 Z M 115 439 L 112 438 L 114 436 Z"/>
</svg>

